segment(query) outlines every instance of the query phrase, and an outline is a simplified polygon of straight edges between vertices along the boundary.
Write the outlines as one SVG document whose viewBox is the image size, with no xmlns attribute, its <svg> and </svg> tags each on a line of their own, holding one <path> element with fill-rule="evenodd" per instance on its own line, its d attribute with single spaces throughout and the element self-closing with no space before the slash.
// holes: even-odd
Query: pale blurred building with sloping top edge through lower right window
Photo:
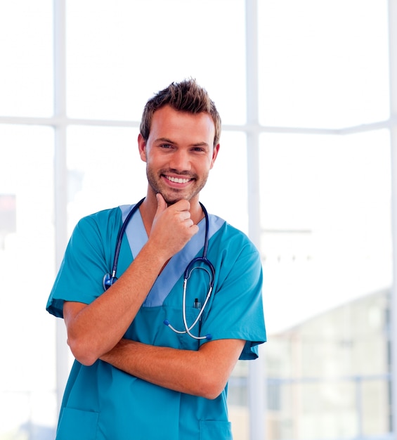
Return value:
<svg viewBox="0 0 397 440">
<path fill-rule="evenodd" d="M 272 439 L 389 438 L 388 308 L 375 292 L 271 336 Z"/>
</svg>

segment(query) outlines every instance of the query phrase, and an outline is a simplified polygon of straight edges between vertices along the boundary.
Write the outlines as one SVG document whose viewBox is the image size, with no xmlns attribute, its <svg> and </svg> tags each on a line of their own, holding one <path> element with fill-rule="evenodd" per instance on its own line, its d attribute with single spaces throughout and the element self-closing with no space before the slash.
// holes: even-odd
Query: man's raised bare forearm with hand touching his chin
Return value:
<svg viewBox="0 0 397 440">
<path fill-rule="evenodd" d="M 117 283 L 91 304 L 65 302 L 67 343 L 77 361 L 92 365 L 122 339 L 164 264 L 198 231 L 187 200 L 167 207 L 157 195 L 148 242 Z"/>
</svg>

